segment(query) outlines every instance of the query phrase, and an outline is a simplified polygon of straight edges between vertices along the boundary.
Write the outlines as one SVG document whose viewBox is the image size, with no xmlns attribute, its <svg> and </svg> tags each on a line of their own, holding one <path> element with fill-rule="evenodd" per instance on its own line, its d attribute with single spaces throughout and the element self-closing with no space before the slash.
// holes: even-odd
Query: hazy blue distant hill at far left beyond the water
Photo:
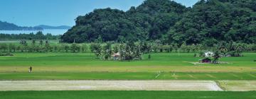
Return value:
<svg viewBox="0 0 256 99">
<path fill-rule="evenodd" d="M 7 23 L 0 21 L 0 30 L 43 30 L 43 28 L 36 27 L 22 27 L 14 23 Z"/>
</svg>

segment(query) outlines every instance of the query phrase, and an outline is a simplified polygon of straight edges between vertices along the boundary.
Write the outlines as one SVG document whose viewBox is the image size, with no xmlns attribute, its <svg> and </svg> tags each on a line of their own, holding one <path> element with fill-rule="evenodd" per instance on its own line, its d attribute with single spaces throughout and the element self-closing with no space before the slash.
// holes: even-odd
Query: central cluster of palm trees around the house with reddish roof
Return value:
<svg viewBox="0 0 256 99">
<path fill-rule="evenodd" d="M 111 43 L 92 43 L 90 45 L 91 52 L 94 52 L 98 59 L 110 60 L 112 54 L 119 53 L 119 60 L 135 60 L 142 59 L 142 53 L 146 49 L 142 49 L 142 45 L 134 42 L 119 43 L 112 46 Z"/>
</svg>

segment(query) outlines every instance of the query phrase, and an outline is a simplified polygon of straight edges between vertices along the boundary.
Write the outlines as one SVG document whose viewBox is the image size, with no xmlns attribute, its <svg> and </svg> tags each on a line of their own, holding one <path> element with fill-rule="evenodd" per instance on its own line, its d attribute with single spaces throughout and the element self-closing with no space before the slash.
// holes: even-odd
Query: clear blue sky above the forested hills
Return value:
<svg viewBox="0 0 256 99">
<path fill-rule="evenodd" d="M 77 16 L 95 8 L 118 8 L 127 11 L 144 0 L 1 0 L 0 21 L 21 26 L 75 25 Z M 192 6 L 198 0 L 174 0 Z"/>
</svg>

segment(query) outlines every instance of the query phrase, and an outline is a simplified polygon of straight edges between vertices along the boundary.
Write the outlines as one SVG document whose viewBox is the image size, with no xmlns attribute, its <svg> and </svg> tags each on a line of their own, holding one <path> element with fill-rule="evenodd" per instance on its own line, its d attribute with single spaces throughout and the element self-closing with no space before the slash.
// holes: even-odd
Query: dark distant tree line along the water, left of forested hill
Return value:
<svg viewBox="0 0 256 99">
<path fill-rule="evenodd" d="M 0 33 L 0 40 L 59 40 L 61 35 L 51 35 L 47 33 L 44 35 L 41 31 L 36 34 L 3 34 Z"/>
</svg>

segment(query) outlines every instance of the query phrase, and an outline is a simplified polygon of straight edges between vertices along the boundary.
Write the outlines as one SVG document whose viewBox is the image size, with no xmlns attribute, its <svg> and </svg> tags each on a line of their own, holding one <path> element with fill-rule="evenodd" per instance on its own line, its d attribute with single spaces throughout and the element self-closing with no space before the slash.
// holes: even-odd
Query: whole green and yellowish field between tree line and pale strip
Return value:
<svg viewBox="0 0 256 99">
<path fill-rule="evenodd" d="M 247 80 L 256 79 L 255 53 L 223 57 L 229 64 L 193 64 L 193 53 L 155 53 L 151 59 L 118 62 L 92 53 L 14 53 L 0 57 L 0 80 Z M 33 66 L 33 73 L 28 67 Z M 159 74 L 161 71 L 161 74 Z M 156 77 L 157 76 L 157 77 Z"/>
</svg>

